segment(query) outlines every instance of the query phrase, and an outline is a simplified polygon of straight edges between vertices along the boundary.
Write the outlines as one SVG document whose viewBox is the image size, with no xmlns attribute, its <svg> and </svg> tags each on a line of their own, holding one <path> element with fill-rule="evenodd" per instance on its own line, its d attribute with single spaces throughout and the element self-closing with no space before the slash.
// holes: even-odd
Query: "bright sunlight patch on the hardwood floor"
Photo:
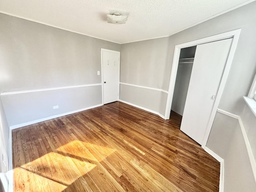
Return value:
<svg viewBox="0 0 256 192">
<path fill-rule="evenodd" d="M 13 171 L 14 191 L 62 191 L 116 150 L 74 140 Z"/>
</svg>

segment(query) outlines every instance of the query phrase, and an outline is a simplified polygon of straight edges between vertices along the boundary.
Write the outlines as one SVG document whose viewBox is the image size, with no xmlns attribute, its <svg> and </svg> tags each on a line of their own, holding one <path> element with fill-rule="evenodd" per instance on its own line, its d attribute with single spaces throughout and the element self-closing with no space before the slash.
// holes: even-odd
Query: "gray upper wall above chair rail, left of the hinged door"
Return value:
<svg viewBox="0 0 256 192">
<path fill-rule="evenodd" d="M 0 14 L 0 92 L 101 82 L 100 48 L 120 44 Z"/>
</svg>

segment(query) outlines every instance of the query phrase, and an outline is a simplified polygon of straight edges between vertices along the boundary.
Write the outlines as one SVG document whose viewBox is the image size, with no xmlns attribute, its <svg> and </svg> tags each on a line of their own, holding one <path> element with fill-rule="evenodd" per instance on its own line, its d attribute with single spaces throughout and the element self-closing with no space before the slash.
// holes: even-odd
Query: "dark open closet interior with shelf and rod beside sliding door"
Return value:
<svg viewBox="0 0 256 192">
<path fill-rule="evenodd" d="M 180 50 L 171 110 L 183 116 L 196 46 Z"/>
</svg>

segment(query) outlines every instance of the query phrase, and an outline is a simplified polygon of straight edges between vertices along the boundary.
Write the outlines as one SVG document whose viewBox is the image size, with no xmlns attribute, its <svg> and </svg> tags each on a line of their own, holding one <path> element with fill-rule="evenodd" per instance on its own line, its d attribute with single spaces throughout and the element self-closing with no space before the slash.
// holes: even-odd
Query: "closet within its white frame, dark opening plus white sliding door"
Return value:
<svg viewBox="0 0 256 192">
<path fill-rule="evenodd" d="M 203 143 L 232 38 L 181 49 L 171 109 L 182 115 L 180 130 Z M 220 97 L 218 97 L 219 102 Z"/>
</svg>

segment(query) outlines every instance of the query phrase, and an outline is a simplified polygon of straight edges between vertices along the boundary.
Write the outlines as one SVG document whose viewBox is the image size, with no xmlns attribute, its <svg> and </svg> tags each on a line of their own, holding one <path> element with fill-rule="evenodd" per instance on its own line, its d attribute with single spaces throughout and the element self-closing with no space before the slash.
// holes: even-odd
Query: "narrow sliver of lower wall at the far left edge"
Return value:
<svg viewBox="0 0 256 192">
<path fill-rule="evenodd" d="M 9 148 L 9 126 L 6 120 L 6 115 L 4 113 L 4 107 L 2 105 L 2 100 L 0 99 L 0 173 L 8 171 L 8 148 Z M 2 155 L 6 158 L 6 166 L 2 162 Z"/>
</svg>

